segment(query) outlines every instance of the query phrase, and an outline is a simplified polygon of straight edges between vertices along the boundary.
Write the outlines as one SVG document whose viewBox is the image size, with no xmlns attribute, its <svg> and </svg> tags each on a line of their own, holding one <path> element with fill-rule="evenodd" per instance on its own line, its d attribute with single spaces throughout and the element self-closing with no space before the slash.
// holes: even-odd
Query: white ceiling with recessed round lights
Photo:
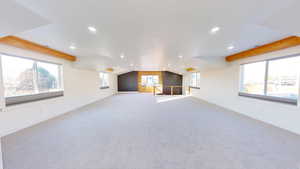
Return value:
<svg viewBox="0 0 300 169">
<path fill-rule="evenodd" d="M 183 72 L 189 66 L 203 70 L 224 65 L 227 55 L 300 32 L 300 23 L 295 22 L 299 0 L 16 2 L 49 24 L 34 25 L 32 17 L 23 23 L 36 28 L 12 33 L 77 56 L 75 66 L 97 70 Z M 88 26 L 96 27 L 97 33 L 90 33 Z M 211 35 L 215 26 L 221 29 Z M 69 48 L 72 44 L 76 50 Z M 235 49 L 229 51 L 229 45 Z"/>
</svg>

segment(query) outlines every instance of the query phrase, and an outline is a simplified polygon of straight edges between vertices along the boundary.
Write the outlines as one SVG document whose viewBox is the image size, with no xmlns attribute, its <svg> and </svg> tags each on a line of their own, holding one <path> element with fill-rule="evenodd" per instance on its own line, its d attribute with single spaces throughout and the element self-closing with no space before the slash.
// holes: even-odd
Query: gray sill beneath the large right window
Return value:
<svg viewBox="0 0 300 169">
<path fill-rule="evenodd" d="M 239 93 L 239 96 L 260 99 L 260 100 L 266 100 L 266 101 L 271 101 L 271 102 L 279 102 L 279 103 L 290 104 L 290 105 L 297 105 L 297 100 L 294 100 L 294 99 L 248 94 L 248 93 L 242 93 L 242 92 Z"/>
</svg>

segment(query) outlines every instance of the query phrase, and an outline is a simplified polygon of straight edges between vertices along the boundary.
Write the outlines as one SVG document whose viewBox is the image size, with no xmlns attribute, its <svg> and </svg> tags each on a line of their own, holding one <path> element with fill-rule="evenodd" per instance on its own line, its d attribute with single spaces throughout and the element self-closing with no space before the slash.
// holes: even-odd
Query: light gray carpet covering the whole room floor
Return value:
<svg viewBox="0 0 300 169">
<path fill-rule="evenodd" d="M 4 169 L 300 168 L 300 136 L 191 97 L 121 94 L 2 143 Z"/>
</svg>

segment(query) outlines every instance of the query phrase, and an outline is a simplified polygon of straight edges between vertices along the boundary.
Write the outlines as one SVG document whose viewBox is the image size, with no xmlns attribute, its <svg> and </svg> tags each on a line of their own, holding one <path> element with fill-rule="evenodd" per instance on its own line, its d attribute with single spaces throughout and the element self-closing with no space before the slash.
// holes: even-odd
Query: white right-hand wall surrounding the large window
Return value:
<svg viewBox="0 0 300 169">
<path fill-rule="evenodd" d="M 243 59 L 226 68 L 201 72 L 201 89 L 192 95 L 210 103 L 300 134 L 300 106 L 238 96 L 239 65 L 252 61 L 300 54 L 300 47 Z M 300 68 L 300 67 L 299 67 Z M 188 78 L 190 75 L 185 75 Z"/>
</svg>

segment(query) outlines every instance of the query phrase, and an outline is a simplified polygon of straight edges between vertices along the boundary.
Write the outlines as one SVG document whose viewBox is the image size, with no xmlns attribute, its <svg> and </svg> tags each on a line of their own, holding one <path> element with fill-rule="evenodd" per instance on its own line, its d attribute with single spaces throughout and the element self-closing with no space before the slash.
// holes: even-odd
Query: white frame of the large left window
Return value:
<svg viewBox="0 0 300 169">
<path fill-rule="evenodd" d="M 35 94 L 25 94 L 25 95 L 19 95 L 19 96 L 9 96 L 5 97 L 4 94 L 4 80 L 3 80 L 3 68 L 2 68 L 2 55 L 6 55 L 9 57 L 16 57 L 16 58 L 21 58 L 21 59 L 27 59 L 27 60 L 32 60 L 34 61 L 34 64 L 37 65 L 38 62 L 40 63 L 49 63 L 49 64 L 54 64 L 57 65 L 59 68 L 59 90 L 57 91 L 47 91 L 47 92 L 39 92 L 38 89 L 36 89 L 38 92 Z M 29 103 L 29 102 L 34 102 L 34 101 L 40 101 L 40 100 L 45 100 L 45 99 L 51 99 L 55 97 L 61 97 L 64 96 L 64 84 L 63 84 L 63 66 L 62 64 L 59 63 L 54 63 L 54 62 L 49 62 L 49 61 L 44 61 L 44 60 L 38 60 L 38 59 L 33 59 L 33 58 L 28 58 L 28 57 L 23 57 L 23 56 L 17 56 L 17 55 L 12 55 L 12 54 L 7 54 L 7 53 L 2 53 L 0 52 L 0 64 L 1 64 L 1 99 L 4 100 L 2 101 L 1 107 L 4 108 L 5 106 L 12 106 L 16 104 L 22 104 L 22 103 Z M 36 67 L 36 66 L 35 66 Z M 37 75 L 35 75 L 37 76 Z M 37 78 L 37 77 L 36 77 Z M 37 85 L 37 80 L 34 80 L 34 85 Z M 3 105 L 4 104 L 4 105 Z"/>
</svg>

